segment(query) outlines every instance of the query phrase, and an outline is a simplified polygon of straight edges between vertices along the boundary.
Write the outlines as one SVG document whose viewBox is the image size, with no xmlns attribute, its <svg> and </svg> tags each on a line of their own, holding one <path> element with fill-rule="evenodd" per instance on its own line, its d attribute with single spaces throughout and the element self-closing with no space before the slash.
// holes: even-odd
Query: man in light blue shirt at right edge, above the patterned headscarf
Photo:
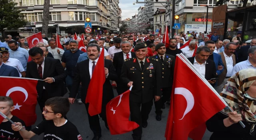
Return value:
<svg viewBox="0 0 256 140">
<path fill-rule="evenodd" d="M 237 72 L 239 72 L 242 69 L 246 69 L 246 68 L 252 68 L 252 69 L 256 69 L 256 46 L 251 46 L 248 49 L 248 60 L 242 61 L 238 64 L 236 64 L 232 70 L 232 74 L 234 75 Z"/>
</svg>

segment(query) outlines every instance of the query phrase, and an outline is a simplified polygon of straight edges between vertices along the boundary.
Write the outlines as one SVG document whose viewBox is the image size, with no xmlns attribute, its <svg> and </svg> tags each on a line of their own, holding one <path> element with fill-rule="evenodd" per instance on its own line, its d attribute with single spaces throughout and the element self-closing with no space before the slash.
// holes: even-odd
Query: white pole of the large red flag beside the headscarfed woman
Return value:
<svg viewBox="0 0 256 140">
<path fill-rule="evenodd" d="M 220 96 L 220 94 L 218 94 L 218 92 L 216 92 L 216 90 L 212 87 L 212 85 L 210 85 L 210 83 L 200 74 L 200 72 L 194 68 L 194 66 L 192 65 L 192 63 L 189 62 L 188 58 L 186 58 L 186 56 L 184 56 L 184 54 L 177 54 L 176 56 L 178 56 L 193 72 L 195 72 L 195 74 L 201 79 L 203 80 L 203 82 L 216 94 L 216 96 L 218 96 L 218 98 L 220 98 L 220 100 L 228 107 L 228 109 L 230 110 L 230 112 L 234 112 L 230 106 L 228 106 L 228 104 L 223 100 L 223 98 Z M 185 61 L 184 61 L 185 60 Z M 245 125 L 242 121 L 239 121 L 239 123 L 241 124 L 241 126 L 244 128 Z"/>
</svg>

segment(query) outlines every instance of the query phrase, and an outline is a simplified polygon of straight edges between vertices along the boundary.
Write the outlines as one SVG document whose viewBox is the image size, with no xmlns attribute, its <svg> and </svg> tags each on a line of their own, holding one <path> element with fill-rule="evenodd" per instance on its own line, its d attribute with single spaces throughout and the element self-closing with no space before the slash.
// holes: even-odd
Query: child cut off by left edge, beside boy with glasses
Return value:
<svg viewBox="0 0 256 140">
<path fill-rule="evenodd" d="M 18 117 L 13 116 L 11 112 L 14 110 L 12 98 L 0 96 L 0 111 L 13 122 L 20 122 L 20 126 L 25 129 L 25 123 Z M 0 124 L 0 140 L 23 140 L 19 132 L 12 130 L 11 122 L 4 118 Z M 24 139 L 25 140 L 25 139 Z"/>
</svg>

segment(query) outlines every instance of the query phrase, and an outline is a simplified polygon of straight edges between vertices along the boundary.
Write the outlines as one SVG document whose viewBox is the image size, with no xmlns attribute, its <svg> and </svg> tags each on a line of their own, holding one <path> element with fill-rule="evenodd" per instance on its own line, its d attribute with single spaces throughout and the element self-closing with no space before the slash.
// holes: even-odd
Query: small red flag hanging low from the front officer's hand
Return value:
<svg viewBox="0 0 256 140">
<path fill-rule="evenodd" d="M 139 127 L 136 122 L 129 120 L 129 96 L 130 90 L 127 90 L 108 102 L 106 106 L 108 127 L 112 135 L 127 133 Z"/>
</svg>

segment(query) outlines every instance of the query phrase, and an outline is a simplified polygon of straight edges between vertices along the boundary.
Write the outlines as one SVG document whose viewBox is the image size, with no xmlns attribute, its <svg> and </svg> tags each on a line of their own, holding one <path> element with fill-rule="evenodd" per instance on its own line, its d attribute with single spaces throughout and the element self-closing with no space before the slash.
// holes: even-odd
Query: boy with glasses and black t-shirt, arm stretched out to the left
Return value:
<svg viewBox="0 0 256 140">
<path fill-rule="evenodd" d="M 82 140 L 76 126 L 64 117 L 69 110 L 69 101 L 65 97 L 53 97 L 45 102 L 43 120 L 31 131 L 24 130 L 20 122 L 12 124 L 14 131 L 19 131 L 23 138 L 32 138 L 44 133 L 44 140 Z M 22 131 L 20 131 L 22 130 Z"/>
</svg>

